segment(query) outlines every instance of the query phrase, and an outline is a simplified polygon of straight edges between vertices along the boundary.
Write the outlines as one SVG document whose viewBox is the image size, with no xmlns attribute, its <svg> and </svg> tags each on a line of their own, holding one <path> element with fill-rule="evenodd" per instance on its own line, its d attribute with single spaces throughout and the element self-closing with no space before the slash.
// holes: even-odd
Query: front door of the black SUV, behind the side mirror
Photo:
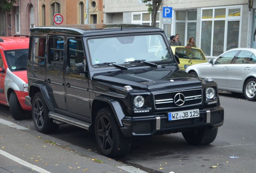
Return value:
<svg viewBox="0 0 256 173">
<path fill-rule="evenodd" d="M 68 112 L 84 121 L 90 121 L 89 80 L 85 73 L 74 73 L 74 65 L 84 63 L 86 67 L 82 38 L 67 39 L 67 66 L 65 72 L 66 100 Z M 84 68 L 85 70 L 85 68 Z"/>
</svg>

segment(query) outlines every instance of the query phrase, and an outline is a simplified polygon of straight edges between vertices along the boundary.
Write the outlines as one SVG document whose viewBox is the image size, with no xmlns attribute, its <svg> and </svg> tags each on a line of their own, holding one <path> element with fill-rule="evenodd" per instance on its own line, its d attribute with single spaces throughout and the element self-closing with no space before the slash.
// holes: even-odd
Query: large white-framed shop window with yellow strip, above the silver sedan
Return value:
<svg viewBox="0 0 256 173">
<path fill-rule="evenodd" d="M 219 56 L 231 48 L 240 46 L 241 8 L 202 8 L 200 48 L 206 56 Z"/>
</svg>

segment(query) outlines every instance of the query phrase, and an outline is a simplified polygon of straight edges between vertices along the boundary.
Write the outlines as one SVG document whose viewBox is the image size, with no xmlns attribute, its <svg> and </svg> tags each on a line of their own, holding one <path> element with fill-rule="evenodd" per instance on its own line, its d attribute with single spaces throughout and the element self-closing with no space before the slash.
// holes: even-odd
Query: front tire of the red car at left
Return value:
<svg viewBox="0 0 256 173">
<path fill-rule="evenodd" d="M 26 118 L 25 111 L 22 109 L 21 104 L 14 91 L 10 93 L 9 97 L 10 113 L 15 120 L 22 120 Z"/>
</svg>

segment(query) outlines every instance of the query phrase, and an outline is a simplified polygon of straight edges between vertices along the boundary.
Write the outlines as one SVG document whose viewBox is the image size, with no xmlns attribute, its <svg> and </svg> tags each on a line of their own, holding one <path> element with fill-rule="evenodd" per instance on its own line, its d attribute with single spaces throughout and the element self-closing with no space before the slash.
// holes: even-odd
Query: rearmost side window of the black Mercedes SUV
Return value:
<svg viewBox="0 0 256 173">
<path fill-rule="evenodd" d="M 33 37 L 31 46 L 30 63 L 44 66 L 45 62 L 45 38 Z"/>
</svg>

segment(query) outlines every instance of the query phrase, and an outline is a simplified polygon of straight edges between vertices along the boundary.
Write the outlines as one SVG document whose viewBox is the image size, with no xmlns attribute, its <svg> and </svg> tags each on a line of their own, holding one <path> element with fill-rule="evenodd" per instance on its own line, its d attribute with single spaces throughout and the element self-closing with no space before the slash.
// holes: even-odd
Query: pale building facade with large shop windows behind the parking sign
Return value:
<svg viewBox="0 0 256 173">
<path fill-rule="evenodd" d="M 182 45 L 194 37 L 197 47 L 208 57 L 231 48 L 256 47 L 252 39 L 256 14 L 254 9 L 250 10 L 249 1 L 162 0 L 157 26 L 165 30 L 168 38 L 180 34 Z M 172 24 L 162 22 L 165 6 L 173 8 Z M 151 14 L 142 0 L 105 0 L 103 7 L 106 23 L 151 24 Z"/>
</svg>

